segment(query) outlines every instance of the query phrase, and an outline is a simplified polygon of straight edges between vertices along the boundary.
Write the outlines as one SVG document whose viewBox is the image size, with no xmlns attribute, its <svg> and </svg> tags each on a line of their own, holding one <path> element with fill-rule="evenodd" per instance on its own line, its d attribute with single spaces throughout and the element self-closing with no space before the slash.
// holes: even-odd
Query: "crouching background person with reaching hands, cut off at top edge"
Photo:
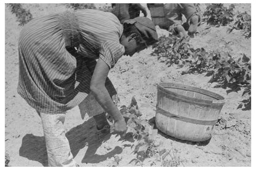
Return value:
<svg viewBox="0 0 256 170">
<path fill-rule="evenodd" d="M 147 4 L 150 9 L 151 17 L 155 25 L 159 25 L 162 29 L 167 29 L 172 34 L 178 34 L 180 37 L 194 36 L 200 23 L 200 15 L 198 14 L 194 4 Z M 165 21 L 156 23 L 154 20 L 153 8 L 162 7 Z M 185 15 L 186 22 L 183 23 L 182 15 Z M 188 31 L 188 33 L 186 33 Z"/>
</svg>

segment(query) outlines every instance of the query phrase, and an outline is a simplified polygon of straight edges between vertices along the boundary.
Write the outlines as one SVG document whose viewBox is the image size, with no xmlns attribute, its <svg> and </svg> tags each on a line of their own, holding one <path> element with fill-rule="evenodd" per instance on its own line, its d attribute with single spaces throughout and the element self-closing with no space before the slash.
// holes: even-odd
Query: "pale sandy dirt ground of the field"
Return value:
<svg viewBox="0 0 256 170">
<path fill-rule="evenodd" d="M 145 5 L 145 4 L 144 4 Z M 63 4 L 24 4 L 33 17 L 65 10 Z M 201 4 L 204 10 L 205 4 Z M 235 4 L 235 12 L 250 14 L 250 4 Z M 25 100 L 17 94 L 18 83 L 18 26 L 15 15 L 6 7 L 6 52 L 5 52 L 5 151 L 10 156 L 10 166 L 47 166 L 46 145 L 41 119 Z M 242 36 L 241 31 L 226 33 L 228 26 L 205 29 L 199 27 L 199 34 L 190 40 L 194 48 L 203 47 L 206 51 L 229 52 L 234 58 L 242 54 L 250 57 L 251 39 Z M 167 34 L 158 29 L 159 36 Z M 220 118 L 227 124 L 218 123 L 209 143 L 180 141 L 158 132 L 156 142 L 162 147 L 175 149 L 174 157 L 179 166 L 251 166 L 251 111 L 236 109 L 242 101 L 242 91 L 226 94 L 222 88 L 214 88 L 204 74 L 181 75 L 185 68 L 167 67 L 147 48 L 132 57 L 122 56 L 111 69 L 110 79 L 118 88 L 121 105 L 128 105 L 132 96 L 138 102 L 142 118 L 150 120 L 156 111 L 156 85 L 160 82 L 184 83 L 193 87 L 214 91 L 225 98 Z M 115 135 L 97 137 L 93 118 L 80 114 L 79 107 L 69 110 L 65 120 L 66 136 L 70 141 L 71 152 L 80 166 L 116 166 L 114 158 L 121 158 L 118 166 L 129 164 L 135 158 L 129 145 L 119 141 Z M 148 158 L 143 166 L 161 166 L 161 162 Z"/>
</svg>

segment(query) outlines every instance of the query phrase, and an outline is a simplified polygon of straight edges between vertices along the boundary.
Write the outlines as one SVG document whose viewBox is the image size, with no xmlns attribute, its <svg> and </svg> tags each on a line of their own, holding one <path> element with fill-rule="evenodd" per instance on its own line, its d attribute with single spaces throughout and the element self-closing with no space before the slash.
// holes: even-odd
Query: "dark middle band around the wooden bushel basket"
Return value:
<svg viewBox="0 0 256 170">
<path fill-rule="evenodd" d="M 160 113 L 160 114 L 166 115 L 167 117 L 175 118 L 183 122 L 194 123 L 198 125 L 215 125 L 215 123 L 217 123 L 217 120 L 196 120 L 193 118 L 187 118 L 187 117 L 182 117 L 180 115 L 171 114 L 169 112 L 166 112 L 166 110 L 162 110 L 159 107 L 156 107 L 156 113 Z"/>
</svg>

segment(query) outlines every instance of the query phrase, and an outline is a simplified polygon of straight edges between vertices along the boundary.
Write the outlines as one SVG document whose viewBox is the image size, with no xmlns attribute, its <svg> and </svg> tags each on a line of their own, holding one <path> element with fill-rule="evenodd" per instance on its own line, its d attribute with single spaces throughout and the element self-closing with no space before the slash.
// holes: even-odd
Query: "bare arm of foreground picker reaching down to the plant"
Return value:
<svg viewBox="0 0 256 170">
<path fill-rule="evenodd" d="M 106 77 L 110 68 L 101 58 L 98 58 L 92 80 L 90 82 L 90 90 L 94 94 L 100 106 L 110 114 L 114 119 L 114 130 L 118 133 L 124 133 L 127 129 L 124 117 L 122 117 L 118 108 L 108 95 L 108 90 L 105 87 Z"/>
</svg>

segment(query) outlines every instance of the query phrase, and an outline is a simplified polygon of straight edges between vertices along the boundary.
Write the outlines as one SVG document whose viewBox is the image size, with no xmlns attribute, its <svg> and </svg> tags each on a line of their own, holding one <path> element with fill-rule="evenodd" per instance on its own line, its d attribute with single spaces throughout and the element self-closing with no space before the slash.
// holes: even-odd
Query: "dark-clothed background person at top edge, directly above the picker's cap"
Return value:
<svg viewBox="0 0 256 170">
<path fill-rule="evenodd" d="M 125 20 L 133 19 L 140 16 L 140 11 L 146 17 L 147 12 L 141 4 L 112 4 L 113 14 L 123 23 Z"/>
</svg>

